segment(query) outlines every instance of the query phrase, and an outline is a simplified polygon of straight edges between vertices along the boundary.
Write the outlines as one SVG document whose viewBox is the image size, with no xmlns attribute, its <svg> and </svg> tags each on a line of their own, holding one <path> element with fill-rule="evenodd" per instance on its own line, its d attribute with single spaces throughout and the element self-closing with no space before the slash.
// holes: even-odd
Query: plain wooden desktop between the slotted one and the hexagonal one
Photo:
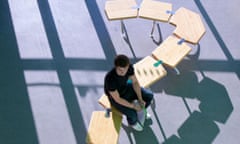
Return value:
<svg viewBox="0 0 240 144">
<path fill-rule="evenodd" d="M 152 52 L 152 55 L 157 60 L 161 60 L 170 67 L 176 67 L 176 65 L 191 51 L 191 47 L 184 42 L 179 44 L 179 41 L 179 38 L 169 36 Z"/>
</svg>

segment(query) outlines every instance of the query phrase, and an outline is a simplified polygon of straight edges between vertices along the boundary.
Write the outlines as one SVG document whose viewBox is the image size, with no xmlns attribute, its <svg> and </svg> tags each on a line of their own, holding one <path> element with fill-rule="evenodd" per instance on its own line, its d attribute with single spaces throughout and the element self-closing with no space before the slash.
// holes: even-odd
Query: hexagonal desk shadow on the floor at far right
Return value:
<svg viewBox="0 0 240 144">
<path fill-rule="evenodd" d="M 200 100 L 199 108 L 202 113 L 212 120 L 225 123 L 233 111 L 231 100 L 226 88 L 216 81 L 204 77 L 196 90 Z"/>
</svg>

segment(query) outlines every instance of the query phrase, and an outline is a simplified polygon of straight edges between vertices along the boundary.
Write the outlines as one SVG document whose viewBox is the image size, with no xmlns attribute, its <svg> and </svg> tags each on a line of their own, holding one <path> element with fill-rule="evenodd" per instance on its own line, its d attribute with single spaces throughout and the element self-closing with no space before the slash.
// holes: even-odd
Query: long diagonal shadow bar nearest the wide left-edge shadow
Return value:
<svg viewBox="0 0 240 144">
<path fill-rule="evenodd" d="M 73 132 L 77 143 L 84 143 L 86 127 L 83 122 L 82 113 L 77 102 L 77 97 L 69 74 L 64 52 L 59 40 L 58 31 L 54 23 L 52 12 L 47 0 L 38 0 L 38 7 L 43 20 L 44 29 L 53 55 L 55 68 L 59 77 L 60 86 L 69 113 Z"/>
</svg>

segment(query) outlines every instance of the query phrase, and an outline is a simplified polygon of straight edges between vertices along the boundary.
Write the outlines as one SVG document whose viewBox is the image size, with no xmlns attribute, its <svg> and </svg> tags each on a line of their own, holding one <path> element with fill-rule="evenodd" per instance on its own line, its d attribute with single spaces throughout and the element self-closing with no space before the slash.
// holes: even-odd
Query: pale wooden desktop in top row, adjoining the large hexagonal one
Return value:
<svg viewBox="0 0 240 144">
<path fill-rule="evenodd" d="M 168 22 L 171 14 L 167 11 L 172 11 L 172 4 L 153 0 L 143 0 L 139 8 L 139 17 Z"/>
</svg>

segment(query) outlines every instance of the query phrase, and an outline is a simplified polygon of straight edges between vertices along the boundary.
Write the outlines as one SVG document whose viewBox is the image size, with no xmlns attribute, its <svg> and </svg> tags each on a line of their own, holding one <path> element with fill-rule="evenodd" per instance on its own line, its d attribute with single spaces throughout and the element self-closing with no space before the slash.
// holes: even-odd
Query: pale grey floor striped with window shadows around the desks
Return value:
<svg viewBox="0 0 240 144">
<path fill-rule="evenodd" d="M 119 144 L 238 144 L 240 1 L 164 0 L 199 13 L 206 34 L 179 65 L 152 85 L 152 120 L 128 128 Z M 138 4 L 141 2 L 137 1 Z M 134 63 L 174 30 L 158 23 L 108 21 L 105 0 L 0 1 L 0 143 L 84 144 L 103 78 L 116 54 Z M 161 32 L 161 33 L 159 33 Z"/>
</svg>

